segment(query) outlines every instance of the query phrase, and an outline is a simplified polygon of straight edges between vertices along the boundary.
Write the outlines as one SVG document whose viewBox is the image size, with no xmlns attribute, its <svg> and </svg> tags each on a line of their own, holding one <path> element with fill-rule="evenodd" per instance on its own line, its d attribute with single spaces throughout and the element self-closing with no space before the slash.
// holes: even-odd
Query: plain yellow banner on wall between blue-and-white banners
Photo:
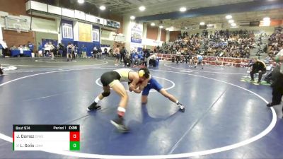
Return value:
<svg viewBox="0 0 283 159">
<path fill-rule="evenodd" d="M 91 24 L 79 23 L 79 41 L 91 42 Z"/>
</svg>

